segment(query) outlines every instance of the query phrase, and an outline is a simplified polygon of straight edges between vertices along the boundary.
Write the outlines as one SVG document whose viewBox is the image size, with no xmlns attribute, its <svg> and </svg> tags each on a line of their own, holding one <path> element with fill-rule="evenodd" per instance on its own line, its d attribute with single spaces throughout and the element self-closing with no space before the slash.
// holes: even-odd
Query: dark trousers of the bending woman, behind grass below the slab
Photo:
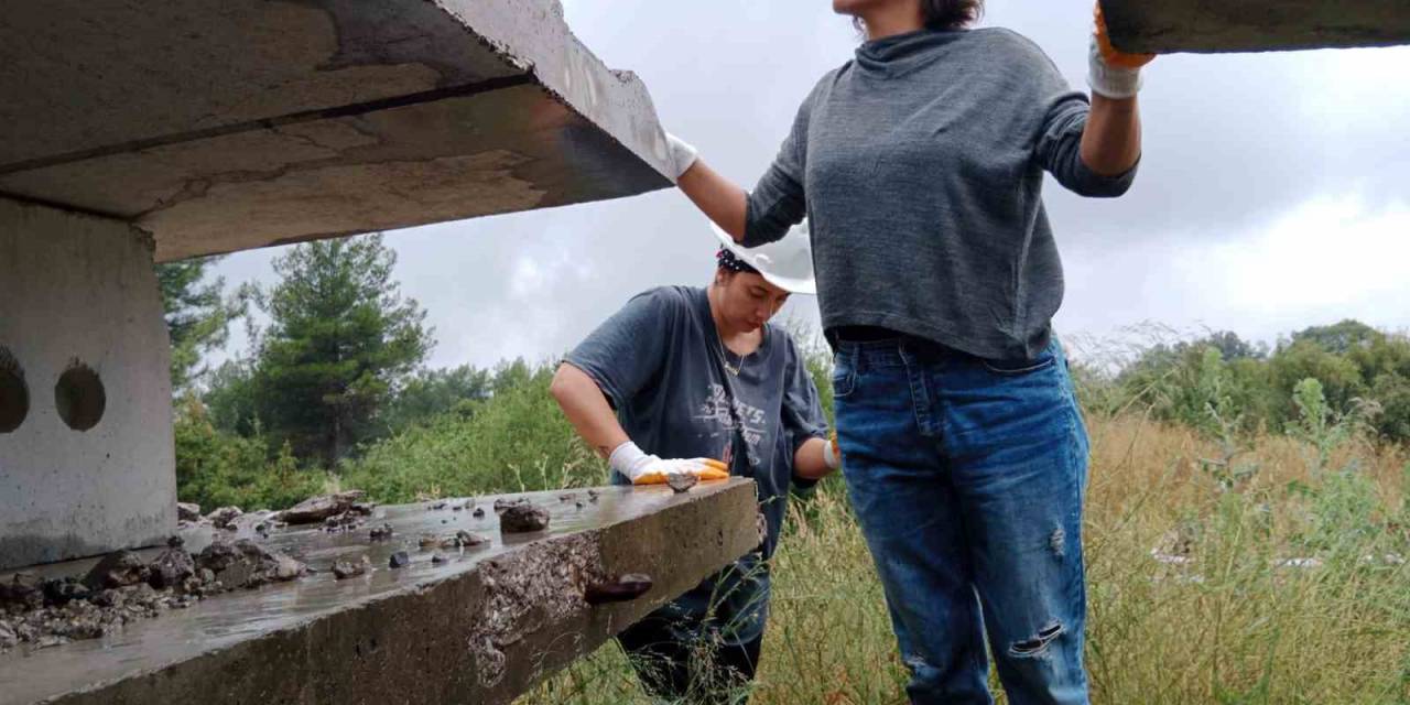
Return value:
<svg viewBox="0 0 1410 705">
<path fill-rule="evenodd" d="M 759 666 L 763 636 L 730 646 L 711 636 L 682 639 L 682 634 L 709 634 L 699 625 L 649 615 L 618 634 L 646 692 L 670 702 L 743 705 Z"/>
</svg>

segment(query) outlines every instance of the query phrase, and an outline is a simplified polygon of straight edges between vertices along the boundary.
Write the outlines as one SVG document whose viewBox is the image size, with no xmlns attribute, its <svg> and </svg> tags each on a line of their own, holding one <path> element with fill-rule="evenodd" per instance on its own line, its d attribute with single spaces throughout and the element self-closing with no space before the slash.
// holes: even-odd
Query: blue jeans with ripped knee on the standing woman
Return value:
<svg viewBox="0 0 1410 705">
<path fill-rule="evenodd" d="M 838 441 L 915 704 L 1084 704 L 1087 433 L 1056 340 L 1001 367 L 838 341 Z"/>
</svg>

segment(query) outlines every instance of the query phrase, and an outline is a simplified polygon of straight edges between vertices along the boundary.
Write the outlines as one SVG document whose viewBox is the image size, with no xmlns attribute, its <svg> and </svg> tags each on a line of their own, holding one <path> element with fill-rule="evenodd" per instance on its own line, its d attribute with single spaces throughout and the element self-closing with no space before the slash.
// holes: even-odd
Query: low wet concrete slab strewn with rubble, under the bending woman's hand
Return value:
<svg viewBox="0 0 1410 705">
<path fill-rule="evenodd" d="M 747 479 L 517 495 L 551 513 L 546 532 L 501 534 L 491 510 L 454 503 L 379 508 L 357 532 L 276 530 L 265 544 L 319 572 L 231 592 L 97 640 L 0 657 L 0 704 L 503 704 L 664 601 L 754 548 Z M 578 503 L 582 506 L 578 506 Z M 369 543 L 368 527 L 395 527 Z M 423 533 L 491 541 L 439 550 Z M 190 541 L 193 550 L 199 541 Z M 405 551 L 410 565 L 389 568 Z M 367 556 L 367 575 L 336 580 Z M 92 561 L 75 563 L 83 572 Z M 61 567 L 47 567 L 54 574 Z M 587 588 L 644 572 L 651 589 L 589 606 Z M 4 577 L 0 577 L 3 580 Z"/>
</svg>

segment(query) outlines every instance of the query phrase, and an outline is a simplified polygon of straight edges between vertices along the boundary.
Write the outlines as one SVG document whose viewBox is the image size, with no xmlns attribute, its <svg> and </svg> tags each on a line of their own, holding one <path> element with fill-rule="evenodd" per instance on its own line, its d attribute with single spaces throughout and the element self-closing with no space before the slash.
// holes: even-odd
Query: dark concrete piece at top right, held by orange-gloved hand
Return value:
<svg viewBox="0 0 1410 705">
<path fill-rule="evenodd" d="M 1239 52 L 1410 44 L 1406 0 L 1101 0 L 1131 52 Z"/>
</svg>

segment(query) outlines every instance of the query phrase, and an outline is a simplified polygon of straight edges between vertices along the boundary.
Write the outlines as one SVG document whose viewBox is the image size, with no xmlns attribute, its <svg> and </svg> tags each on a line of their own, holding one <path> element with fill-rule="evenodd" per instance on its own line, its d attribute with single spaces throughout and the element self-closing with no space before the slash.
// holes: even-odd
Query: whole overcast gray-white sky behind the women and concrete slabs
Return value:
<svg viewBox="0 0 1410 705">
<path fill-rule="evenodd" d="M 634 70 L 667 130 L 752 188 L 798 103 L 857 38 L 828 0 L 565 0 L 577 35 Z M 1084 86 L 1086 0 L 990 0 Z M 1146 69 L 1145 157 L 1120 200 L 1045 197 L 1067 274 L 1058 330 L 1159 321 L 1273 341 L 1356 317 L 1410 329 L 1410 48 L 1172 55 Z M 389 233 L 430 365 L 553 358 L 633 293 L 708 282 L 713 238 L 678 192 Z M 279 250 L 219 265 L 272 281 Z M 816 300 L 785 316 L 816 320 Z M 231 337 L 238 350 L 243 336 Z"/>
</svg>

